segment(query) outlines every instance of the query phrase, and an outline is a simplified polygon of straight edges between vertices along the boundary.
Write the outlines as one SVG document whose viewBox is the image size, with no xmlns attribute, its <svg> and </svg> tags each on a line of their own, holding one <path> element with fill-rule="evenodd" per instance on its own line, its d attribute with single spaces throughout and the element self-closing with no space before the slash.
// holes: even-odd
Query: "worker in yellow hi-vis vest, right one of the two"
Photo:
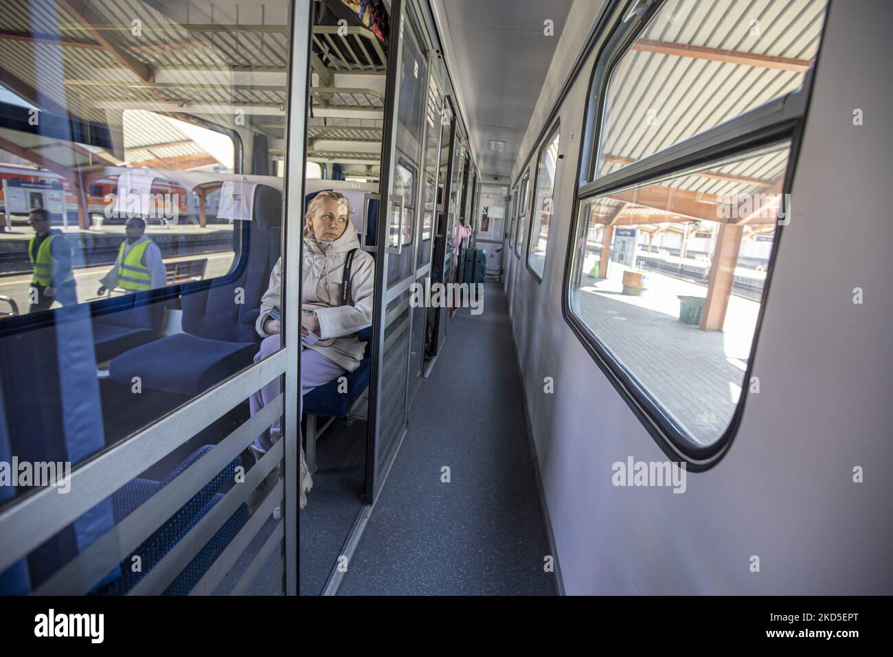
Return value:
<svg viewBox="0 0 893 657">
<path fill-rule="evenodd" d="M 121 242 L 112 271 L 104 275 L 96 291 L 100 296 L 114 288 L 128 292 L 154 290 L 167 282 L 162 249 L 146 237 L 146 222 L 132 216 L 124 225 L 124 232 L 127 239 Z"/>
</svg>

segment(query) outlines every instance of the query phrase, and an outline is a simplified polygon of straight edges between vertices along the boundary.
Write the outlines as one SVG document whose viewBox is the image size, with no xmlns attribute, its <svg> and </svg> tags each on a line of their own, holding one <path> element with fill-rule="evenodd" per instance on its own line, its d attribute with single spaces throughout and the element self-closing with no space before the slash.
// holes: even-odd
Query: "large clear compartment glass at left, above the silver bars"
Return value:
<svg viewBox="0 0 893 657">
<path fill-rule="evenodd" d="M 32 122 L 26 107 L 24 121 L 13 106 L 0 113 L 5 414 L 23 434 L 47 416 L 41 426 L 60 435 L 89 415 L 100 449 L 253 364 L 281 244 L 283 179 L 266 169 L 282 144 L 265 135 L 288 116 L 289 3 L 265 5 L 269 31 L 257 29 L 260 7 L 241 27 L 218 8 L 241 46 L 190 27 L 212 24 L 201 8 L 128 6 L 38 15 L 22 4 L 0 19 L 82 35 L 0 30 L 0 53 L 46 63 L 22 70 L 21 84 L 3 80 L 4 98 L 41 107 Z M 131 14 L 141 36 L 120 28 Z M 256 87 L 254 68 L 278 81 Z M 23 403 L 22 386 L 46 393 Z"/>
</svg>

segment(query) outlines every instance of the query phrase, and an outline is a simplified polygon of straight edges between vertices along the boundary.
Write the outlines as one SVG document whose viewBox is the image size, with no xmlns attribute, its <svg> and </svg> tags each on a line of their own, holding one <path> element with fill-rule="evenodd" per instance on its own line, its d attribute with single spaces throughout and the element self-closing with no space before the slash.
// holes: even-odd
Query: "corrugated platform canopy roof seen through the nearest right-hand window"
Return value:
<svg viewBox="0 0 893 657">
<path fill-rule="evenodd" d="M 669 0 L 613 69 L 594 175 L 616 173 L 797 89 L 814 64 L 826 4 Z M 612 194 L 594 219 L 647 229 L 661 219 L 775 223 L 787 151 L 764 149 Z M 754 195 L 770 198 L 740 206 Z"/>
</svg>

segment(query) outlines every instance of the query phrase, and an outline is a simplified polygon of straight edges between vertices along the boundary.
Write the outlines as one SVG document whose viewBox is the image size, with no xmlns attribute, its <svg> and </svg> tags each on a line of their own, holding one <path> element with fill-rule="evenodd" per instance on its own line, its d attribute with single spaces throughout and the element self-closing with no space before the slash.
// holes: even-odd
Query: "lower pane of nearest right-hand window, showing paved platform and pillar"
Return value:
<svg viewBox="0 0 893 657">
<path fill-rule="evenodd" d="M 746 385 L 788 158 L 785 143 L 580 202 L 572 314 L 697 445 Z"/>
</svg>

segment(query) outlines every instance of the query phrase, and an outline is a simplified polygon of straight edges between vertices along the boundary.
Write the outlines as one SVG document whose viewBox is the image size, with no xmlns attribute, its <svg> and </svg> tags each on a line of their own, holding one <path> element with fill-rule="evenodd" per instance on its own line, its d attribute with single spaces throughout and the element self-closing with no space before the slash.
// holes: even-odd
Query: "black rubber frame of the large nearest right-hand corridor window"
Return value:
<svg viewBox="0 0 893 657">
<path fill-rule="evenodd" d="M 628 0 L 622 7 L 621 15 L 626 15 L 630 6 L 635 4 L 635 0 Z M 671 175 L 680 175 L 698 165 L 714 162 L 723 157 L 744 156 L 748 152 L 783 141 L 789 141 L 790 143 L 789 159 L 785 168 L 784 182 L 781 189 L 782 199 L 788 198 L 787 195 L 793 186 L 809 100 L 812 95 L 814 69 L 820 65 L 822 57 L 822 44 L 824 42 L 824 31 L 827 29 L 828 9 L 826 5 L 822 35 L 819 40 L 814 66 L 805 73 L 799 88 L 785 96 L 776 97 L 764 105 L 759 105 L 744 114 L 739 114 L 728 122 L 700 132 L 689 139 L 684 139 L 672 145 L 672 147 L 622 167 L 617 172 L 609 173 L 597 180 L 593 180 L 595 177 L 598 141 L 601 138 L 603 129 L 602 119 L 606 92 L 611 79 L 611 73 L 622 56 L 629 51 L 631 44 L 638 38 L 638 35 L 647 27 L 651 18 L 660 11 L 663 4 L 662 1 L 655 2 L 655 4 L 647 7 L 647 10 L 643 13 L 630 13 L 628 19 L 631 18 L 633 20 L 628 22 L 615 21 L 612 26 L 608 26 L 607 29 L 611 31 L 606 35 L 604 46 L 602 46 L 595 62 L 592 64 L 583 113 L 583 139 L 577 163 L 577 184 L 573 193 L 571 224 L 564 260 L 562 315 L 564 316 L 564 321 L 571 328 L 572 333 L 580 341 L 580 344 L 588 351 L 596 365 L 612 383 L 614 389 L 621 395 L 633 414 L 638 417 L 638 420 L 644 425 L 648 434 L 655 440 L 663 453 L 670 459 L 686 462 L 689 470 L 701 472 L 714 467 L 722 459 L 738 433 L 741 417 L 747 402 L 747 381 L 753 375 L 755 354 L 758 349 L 763 325 L 766 300 L 772 285 L 772 273 L 784 234 L 784 226 L 776 223 L 775 239 L 772 243 L 769 266 L 766 269 L 763 296 L 760 299 L 760 309 L 757 314 L 750 357 L 747 361 L 747 369 L 742 377 L 744 385 L 742 385 L 738 403 L 732 413 L 729 424 L 722 434 L 711 444 L 701 446 L 689 440 L 680 431 L 680 428 L 663 411 L 663 405 L 659 400 L 655 403 L 655 400 L 651 399 L 650 395 L 645 392 L 643 386 L 638 382 L 638 378 L 632 375 L 617 358 L 614 358 L 610 350 L 606 349 L 605 344 L 588 328 L 582 318 L 573 313 L 571 293 L 574 281 L 579 275 L 577 272 L 577 249 L 575 245 L 580 233 L 580 207 L 589 200 L 612 192 L 635 188 L 647 182 L 660 181 Z"/>
</svg>

